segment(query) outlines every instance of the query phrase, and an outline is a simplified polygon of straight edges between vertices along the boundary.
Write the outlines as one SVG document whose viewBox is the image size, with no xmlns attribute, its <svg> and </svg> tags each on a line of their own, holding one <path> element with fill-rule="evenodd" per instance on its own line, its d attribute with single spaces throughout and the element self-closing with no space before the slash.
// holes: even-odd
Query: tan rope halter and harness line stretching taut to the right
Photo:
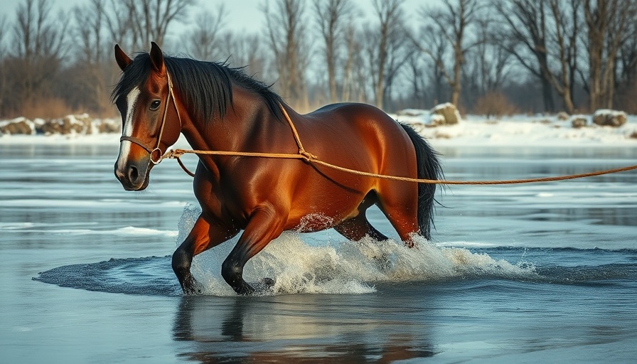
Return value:
<svg viewBox="0 0 637 364">
<path fill-rule="evenodd" d="M 139 140 L 133 140 L 132 137 L 122 137 L 122 140 L 129 140 L 134 143 L 141 145 L 144 149 L 149 151 L 151 154 L 151 161 L 154 164 L 159 164 L 164 159 L 177 159 L 179 166 L 188 173 L 190 176 L 195 176 L 195 173 L 188 171 L 188 168 L 183 164 L 180 157 L 183 154 L 201 154 L 201 155 L 215 155 L 215 156 L 248 156 L 248 157 L 258 157 L 258 158 L 279 158 L 279 159 L 301 159 L 306 161 L 307 163 L 319 164 L 321 166 L 326 166 L 328 168 L 335 169 L 336 171 L 343 171 L 347 173 L 352 173 L 357 176 L 366 176 L 371 178 L 383 178 L 389 179 L 393 181 L 406 181 L 406 182 L 415 182 L 415 183 L 432 183 L 432 184 L 444 184 L 444 185 L 512 185 L 512 184 L 520 184 L 520 183 L 535 183 L 535 182 L 552 182 L 552 181 L 564 181 L 567 179 L 574 178 L 584 178 L 584 177 L 592 177 L 592 176 L 601 176 L 603 174 L 610 173 L 618 173 L 623 171 L 631 171 L 633 169 L 637 169 L 637 165 L 627 166 L 623 168 L 614 168 L 614 169 L 606 169 L 605 171 L 595 171 L 590 173 L 581 173 L 581 174 L 571 174 L 568 176 L 557 176 L 557 177 L 543 177 L 543 178 L 528 178 L 528 179 L 513 179 L 513 180 L 505 180 L 505 181 L 447 181 L 447 180 L 436 180 L 436 179 L 426 179 L 426 178 L 410 178 L 410 177 L 400 177 L 400 176 L 385 176 L 378 173 L 369 173 L 363 171 L 357 171 L 355 169 L 345 168 L 341 166 L 336 166 L 334 164 L 330 164 L 326 161 L 321 161 L 318 156 L 309 153 L 303 148 L 303 144 L 301 144 L 301 138 L 299 137 L 299 132 L 296 132 L 296 127 L 294 127 L 294 122 L 290 119 L 287 111 L 284 109 L 283 105 L 279 104 L 281 107 L 281 111 L 283 112 L 285 119 L 287 120 L 292 134 L 294 135 L 294 141 L 296 141 L 296 145 L 299 146 L 299 152 L 296 154 L 288 154 L 288 153 L 257 153 L 257 152 L 245 152 L 245 151 L 201 151 L 201 150 L 193 150 L 193 149 L 171 149 L 166 151 L 166 153 L 159 157 L 157 161 L 152 159 L 152 155 L 154 151 L 159 150 L 159 143 L 161 142 L 161 134 L 164 132 L 164 124 L 166 122 L 166 113 L 168 112 L 168 103 L 170 99 L 173 99 L 173 105 L 175 105 L 175 109 L 177 111 L 177 117 L 179 118 L 179 124 L 181 124 L 181 115 L 179 114 L 179 110 L 177 107 L 177 102 L 175 100 L 175 95 L 173 93 L 173 82 L 171 81 L 170 75 L 166 73 L 168 76 L 168 100 L 166 100 L 166 108 L 164 109 L 164 118 L 161 120 L 161 129 L 159 131 L 159 138 L 157 139 L 157 146 L 152 151 L 144 146 L 144 143 Z M 161 153 L 161 150 L 159 150 Z"/>
</svg>

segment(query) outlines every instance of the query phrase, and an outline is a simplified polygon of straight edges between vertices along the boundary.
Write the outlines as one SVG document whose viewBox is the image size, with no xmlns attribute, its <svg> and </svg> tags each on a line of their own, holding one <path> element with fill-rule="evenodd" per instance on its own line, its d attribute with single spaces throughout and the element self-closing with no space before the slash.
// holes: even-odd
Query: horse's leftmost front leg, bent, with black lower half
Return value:
<svg viewBox="0 0 637 364">
<path fill-rule="evenodd" d="M 237 235 L 238 231 L 211 224 L 203 215 L 199 216 L 186 240 L 173 253 L 173 271 L 179 279 L 183 294 L 200 294 L 203 291 L 203 287 L 191 273 L 193 257 L 225 242 Z"/>
</svg>

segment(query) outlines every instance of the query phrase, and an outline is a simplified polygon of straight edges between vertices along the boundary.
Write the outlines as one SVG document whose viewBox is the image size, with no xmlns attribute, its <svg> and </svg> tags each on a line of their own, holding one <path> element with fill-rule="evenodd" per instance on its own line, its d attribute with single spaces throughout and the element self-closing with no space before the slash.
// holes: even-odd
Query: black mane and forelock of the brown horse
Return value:
<svg viewBox="0 0 637 364">
<path fill-rule="evenodd" d="M 166 70 L 171 75 L 176 92 L 193 116 L 204 122 L 215 116 L 223 118 L 232 105 L 232 82 L 247 90 L 252 90 L 265 102 L 270 112 L 282 119 L 279 104 L 283 103 L 269 86 L 246 75 L 243 68 L 230 68 L 225 63 L 204 62 L 191 58 L 164 56 Z M 113 102 L 128 95 L 134 87 L 144 84 L 151 73 L 152 63 L 149 53 L 139 53 L 124 70 L 111 95 Z"/>
</svg>

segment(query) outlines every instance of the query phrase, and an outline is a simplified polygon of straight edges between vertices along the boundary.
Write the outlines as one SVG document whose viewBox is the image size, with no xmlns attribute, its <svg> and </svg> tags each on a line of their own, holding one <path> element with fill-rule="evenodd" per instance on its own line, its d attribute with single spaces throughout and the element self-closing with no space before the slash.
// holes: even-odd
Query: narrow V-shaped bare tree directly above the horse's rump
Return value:
<svg viewBox="0 0 637 364">
<path fill-rule="evenodd" d="M 314 0 L 314 12 L 319 31 L 325 42 L 325 63 L 327 65 L 330 102 L 337 100 L 336 67 L 339 63 L 339 49 L 348 37 L 348 24 L 352 21 L 355 7 L 351 0 Z"/>
</svg>

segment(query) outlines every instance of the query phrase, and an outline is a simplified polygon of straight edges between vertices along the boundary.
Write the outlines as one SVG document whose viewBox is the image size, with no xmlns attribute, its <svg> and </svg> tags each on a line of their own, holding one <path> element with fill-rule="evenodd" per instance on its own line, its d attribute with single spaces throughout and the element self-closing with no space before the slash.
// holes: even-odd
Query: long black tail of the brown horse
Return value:
<svg viewBox="0 0 637 364">
<path fill-rule="evenodd" d="M 441 179 L 443 177 L 442 168 L 436 151 L 412 127 L 402 123 L 400 123 L 400 126 L 410 136 L 414 149 L 416 149 L 418 178 Z M 435 193 L 436 185 L 434 183 L 418 183 L 418 226 L 420 235 L 427 240 L 431 240 L 432 237 L 431 228 L 434 225 Z"/>
</svg>

